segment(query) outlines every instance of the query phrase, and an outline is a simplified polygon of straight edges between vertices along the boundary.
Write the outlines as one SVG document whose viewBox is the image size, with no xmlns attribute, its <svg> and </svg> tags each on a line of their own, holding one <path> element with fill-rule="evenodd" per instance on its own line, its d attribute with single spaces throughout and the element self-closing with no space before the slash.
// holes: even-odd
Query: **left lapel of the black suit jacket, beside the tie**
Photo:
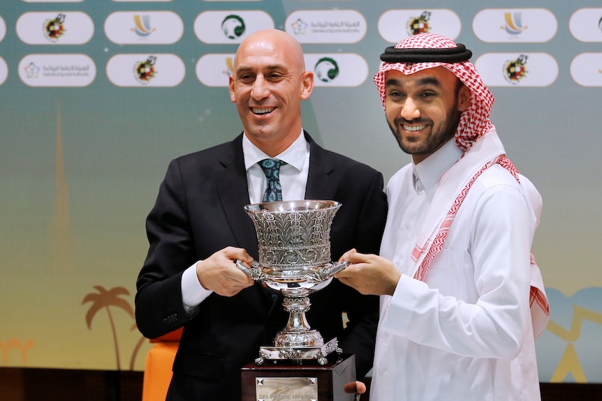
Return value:
<svg viewBox="0 0 602 401">
<path fill-rule="evenodd" d="M 216 176 L 219 202 L 226 213 L 237 246 L 246 249 L 249 255 L 257 259 L 257 234 L 251 218 L 244 211 L 244 206 L 251 201 L 249 201 L 247 188 L 247 172 L 244 169 L 242 135 L 236 137 L 230 144 L 230 152 L 224 153 L 219 161 L 223 170 Z"/>
</svg>

